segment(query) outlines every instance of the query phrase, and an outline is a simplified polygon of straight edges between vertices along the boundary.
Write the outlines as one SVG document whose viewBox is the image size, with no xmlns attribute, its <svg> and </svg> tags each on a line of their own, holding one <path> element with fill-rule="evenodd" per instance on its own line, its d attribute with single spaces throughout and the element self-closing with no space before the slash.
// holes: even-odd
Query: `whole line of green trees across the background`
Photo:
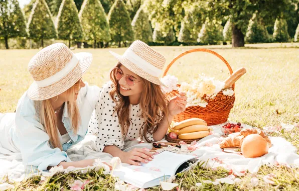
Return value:
<svg viewBox="0 0 299 191">
<path fill-rule="evenodd" d="M 201 45 L 297 41 L 299 0 L 0 0 L 0 40 L 9 48 Z"/>
</svg>

